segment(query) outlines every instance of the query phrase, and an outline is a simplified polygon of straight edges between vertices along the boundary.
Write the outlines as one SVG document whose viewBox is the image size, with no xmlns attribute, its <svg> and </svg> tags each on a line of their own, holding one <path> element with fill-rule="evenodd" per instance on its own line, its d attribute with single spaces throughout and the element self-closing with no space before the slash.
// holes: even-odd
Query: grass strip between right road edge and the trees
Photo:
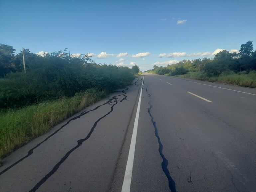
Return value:
<svg viewBox="0 0 256 192">
<path fill-rule="evenodd" d="M 250 71 L 248 74 L 246 72 L 221 74 L 218 77 L 208 77 L 202 72 L 189 72 L 185 75 L 178 75 L 178 77 L 256 88 L 256 71 Z"/>
</svg>

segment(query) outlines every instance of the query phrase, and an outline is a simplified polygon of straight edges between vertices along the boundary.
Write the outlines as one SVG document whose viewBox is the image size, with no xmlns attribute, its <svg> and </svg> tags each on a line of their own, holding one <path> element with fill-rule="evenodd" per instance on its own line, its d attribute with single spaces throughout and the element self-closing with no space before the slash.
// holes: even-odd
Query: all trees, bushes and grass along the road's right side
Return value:
<svg viewBox="0 0 256 192">
<path fill-rule="evenodd" d="M 166 67 L 154 65 L 146 72 L 256 88 L 255 70 L 256 50 L 248 41 L 241 45 L 239 53 L 223 50 L 214 58 L 184 59 Z"/>
</svg>

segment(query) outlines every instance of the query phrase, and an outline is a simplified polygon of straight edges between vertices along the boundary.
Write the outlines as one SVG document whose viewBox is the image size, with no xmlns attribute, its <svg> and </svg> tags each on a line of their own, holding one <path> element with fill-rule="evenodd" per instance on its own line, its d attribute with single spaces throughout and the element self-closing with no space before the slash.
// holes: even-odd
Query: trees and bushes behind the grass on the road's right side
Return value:
<svg viewBox="0 0 256 192">
<path fill-rule="evenodd" d="M 166 67 L 154 65 L 153 69 L 147 72 L 169 76 L 200 72 L 207 77 L 217 77 L 223 74 L 249 73 L 252 70 L 256 70 L 256 50 L 253 50 L 252 41 L 248 41 L 241 45 L 239 53 L 223 50 L 215 54 L 214 58 L 184 59 Z"/>
</svg>

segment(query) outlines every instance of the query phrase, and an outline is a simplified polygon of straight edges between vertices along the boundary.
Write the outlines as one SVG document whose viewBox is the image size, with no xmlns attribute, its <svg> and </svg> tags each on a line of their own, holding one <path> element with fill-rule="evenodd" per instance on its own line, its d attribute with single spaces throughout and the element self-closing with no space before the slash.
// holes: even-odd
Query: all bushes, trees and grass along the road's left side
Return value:
<svg viewBox="0 0 256 192">
<path fill-rule="evenodd" d="M 0 159 L 64 119 L 131 84 L 138 66 L 96 64 L 86 54 L 43 56 L 0 45 Z M 1 161 L 0 161 L 1 165 Z"/>
</svg>

